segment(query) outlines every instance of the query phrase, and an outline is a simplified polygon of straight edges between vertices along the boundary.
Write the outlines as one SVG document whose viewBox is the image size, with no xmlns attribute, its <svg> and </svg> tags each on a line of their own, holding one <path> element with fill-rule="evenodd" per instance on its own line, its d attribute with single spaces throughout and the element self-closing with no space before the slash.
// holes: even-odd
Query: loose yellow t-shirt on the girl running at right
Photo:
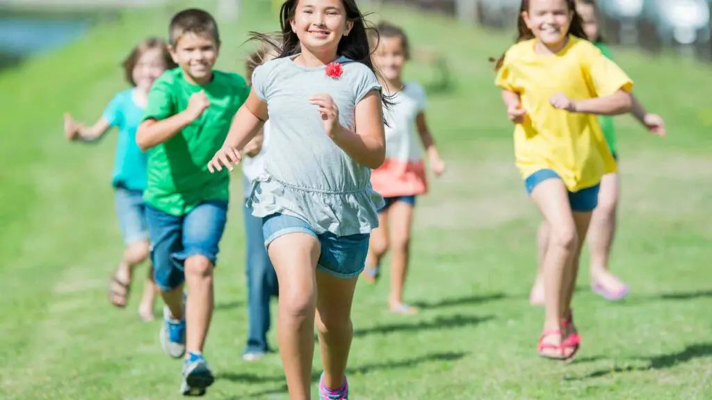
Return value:
<svg viewBox="0 0 712 400">
<path fill-rule="evenodd" d="M 553 169 L 569 191 L 595 186 L 616 163 L 596 115 L 559 110 L 549 102 L 563 93 L 572 100 L 608 96 L 633 82 L 592 43 L 569 36 L 559 53 L 535 53 L 536 39 L 506 52 L 495 83 L 520 95 L 528 118 L 514 130 L 516 165 L 524 178 Z"/>
</svg>

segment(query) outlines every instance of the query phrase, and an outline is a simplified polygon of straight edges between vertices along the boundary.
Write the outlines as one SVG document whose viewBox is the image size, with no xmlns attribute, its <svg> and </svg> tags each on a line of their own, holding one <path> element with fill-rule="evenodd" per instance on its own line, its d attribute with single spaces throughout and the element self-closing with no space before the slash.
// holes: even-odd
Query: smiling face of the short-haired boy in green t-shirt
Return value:
<svg viewBox="0 0 712 400">
<path fill-rule="evenodd" d="M 218 58 L 219 44 L 208 34 L 184 33 L 175 47 L 169 47 L 171 57 L 194 83 L 206 83 Z"/>
</svg>

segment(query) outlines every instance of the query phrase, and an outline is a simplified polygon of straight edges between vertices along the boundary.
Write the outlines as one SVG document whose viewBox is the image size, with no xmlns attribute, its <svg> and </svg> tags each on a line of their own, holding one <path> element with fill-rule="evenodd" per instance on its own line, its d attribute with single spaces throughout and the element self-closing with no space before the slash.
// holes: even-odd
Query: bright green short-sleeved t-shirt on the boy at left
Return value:
<svg viewBox="0 0 712 400">
<path fill-rule="evenodd" d="M 167 214 L 182 216 L 204 201 L 229 199 L 227 171 L 208 172 L 206 165 L 222 144 L 232 117 L 247 100 L 250 88 L 236 73 L 213 71 L 206 85 L 185 80 L 181 68 L 167 70 L 148 95 L 143 120 L 165 120 L 188 107 L 190 95 L 205 90 L 210 106 L 192 124 L 148 152 L 144 200 Z"/>
</svg>

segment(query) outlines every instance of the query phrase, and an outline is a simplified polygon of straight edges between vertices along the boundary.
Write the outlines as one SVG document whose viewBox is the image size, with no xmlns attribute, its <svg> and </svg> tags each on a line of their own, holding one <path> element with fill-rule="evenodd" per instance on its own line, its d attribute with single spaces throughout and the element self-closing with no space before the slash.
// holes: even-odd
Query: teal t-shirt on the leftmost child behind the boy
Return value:
<svg viewBox="0 0 712 400">
<path fill-rule="evenodd" d="M 133 88 L 117 93 L 104 110 L 103 117 L 111 127 L 117 127 L 116 155 L 111 183 L 126 189 L 146 189 L 146 154 L 136 144 L 136 130 L 141 123 L 143 108 L 134 101 Z"/>
</svg>

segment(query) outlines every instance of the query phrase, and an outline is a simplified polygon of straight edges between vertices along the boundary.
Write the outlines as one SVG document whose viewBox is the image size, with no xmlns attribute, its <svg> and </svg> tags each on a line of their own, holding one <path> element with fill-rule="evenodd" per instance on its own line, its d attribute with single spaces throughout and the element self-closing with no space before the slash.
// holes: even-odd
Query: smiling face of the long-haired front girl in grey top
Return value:
<svg viewBox="0 0 712 400">
<path fill-rule="evenodd" d="M 342 0 L 299 0 L 289 22 L 303 49 L 314 54 L 336 53 L 353 26 Z"/>
</svg>

